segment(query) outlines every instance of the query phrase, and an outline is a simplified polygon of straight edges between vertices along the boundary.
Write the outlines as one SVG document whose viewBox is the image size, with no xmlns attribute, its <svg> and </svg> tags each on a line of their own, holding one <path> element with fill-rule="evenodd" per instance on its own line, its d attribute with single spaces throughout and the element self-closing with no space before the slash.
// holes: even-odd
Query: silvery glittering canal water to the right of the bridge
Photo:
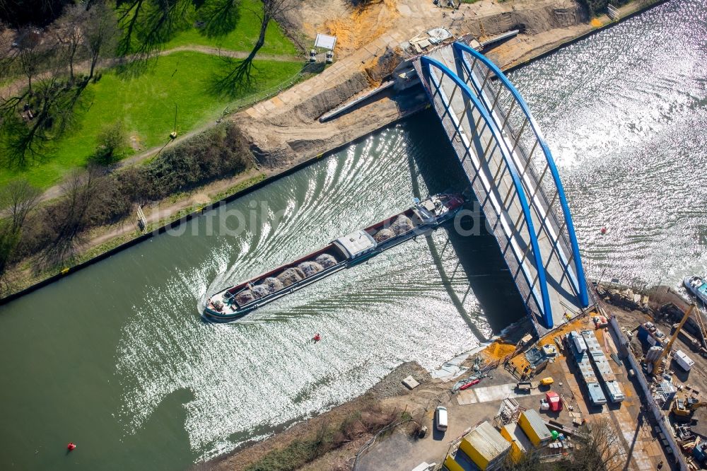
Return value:
<svg viewBox="0 0 707 471">
<path fill-rule="evenodd" d="M 510 75 L 554 153 L 590 277 L 678 287 L 707 272 L 706 37 L 704 2 L 669 1 Z"/>
</svg>

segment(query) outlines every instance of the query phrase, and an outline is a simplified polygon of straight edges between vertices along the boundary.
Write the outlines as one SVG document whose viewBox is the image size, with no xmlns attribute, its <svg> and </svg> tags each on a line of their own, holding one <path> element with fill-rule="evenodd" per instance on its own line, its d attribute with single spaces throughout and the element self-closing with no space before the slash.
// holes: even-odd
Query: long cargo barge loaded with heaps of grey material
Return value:
<svg viewBox="0 0 707 471">
<path fill-rule="evenodd" d="M 436 194 L 400 214 L 333 240 L 320 250 L 258 277 L 219 291 L 206 300 L 203 317 L 230 322 L 339 270 L 353 267 L 454 218 L 464 204 L 459 194 Z"/>
</svg>

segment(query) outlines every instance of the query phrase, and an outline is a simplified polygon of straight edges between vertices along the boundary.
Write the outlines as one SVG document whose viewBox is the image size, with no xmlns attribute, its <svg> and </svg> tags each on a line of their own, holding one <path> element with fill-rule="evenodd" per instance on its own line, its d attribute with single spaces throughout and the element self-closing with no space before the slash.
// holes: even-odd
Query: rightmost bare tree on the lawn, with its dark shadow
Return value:
<svg viewBox="0 0 707 471">
<path fill-rule="evenodd" d="M 233 69 L 223 78 L 216 81 L 218 91 L 228 91 L 230 89 L 250 88 L 252 85 L 253 60 L 261 47 L 265 45 L 265 33 L 270 21 L 280 18 L 287 11 L 293 8 L 293 0 L 261 0 L 261 8 L 254 13 L 260 21 L 260 33 L 255 42 L 255 46 L 248 54 L 248 57 L 240 60 L 231 59 L 229 62 Z"/>
</svg>

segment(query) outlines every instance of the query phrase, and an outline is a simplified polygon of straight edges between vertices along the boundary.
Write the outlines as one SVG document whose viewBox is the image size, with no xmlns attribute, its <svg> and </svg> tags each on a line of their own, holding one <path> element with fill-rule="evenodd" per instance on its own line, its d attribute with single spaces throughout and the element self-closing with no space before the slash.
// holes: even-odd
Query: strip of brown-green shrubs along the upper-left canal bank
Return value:
<svg viewBox="0 0 707 471">
<path fill-rule="evenodd" d="M 247 142 L 233 123 L 221 124 L 165 149 L 144 165 L 118 172 L 90 165 L 76 170 L 62 197 L 37 205 L 38 190 L 25 182 L 4 187 L 0 202 L 0 296 L 18 289 L 25 270 L 35 274 L 76 262 L 90 231 L 116 223 L 136 205 L 158 201 L 252 165 Z"/>
</svg>

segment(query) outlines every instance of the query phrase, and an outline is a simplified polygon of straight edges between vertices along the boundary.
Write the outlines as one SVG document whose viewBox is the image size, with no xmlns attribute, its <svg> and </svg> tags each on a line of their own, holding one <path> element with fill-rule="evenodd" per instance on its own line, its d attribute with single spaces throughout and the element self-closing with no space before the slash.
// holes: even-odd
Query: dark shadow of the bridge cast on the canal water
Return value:
<svg viewBox="0 0 707 471">
<path fill-rule="evenodd" d="M 430 194 L 468 189 L 467 196 L 470 198 L 466 206 L 477 216 L 464 216 L 460 226 L 465 231 L 474 229 L 469 231 L 472 235 L 462 234 L 450 224 L 445 228 L 449 238 L 443 245 L 436 244 L 431 237 L 426 239 L 445 289 L 464 321 L 477 337 L 483 339 L 486 335 L 479 332 L 476 320 L 485 315 L 493 333 L 497 334 L 526 314 L 525 305 L 510 276 L 501 249 L 496 238 L 486 229 L 486 219 L 481 209 L 474 210 L 479 207 L 477 199 L 471 192 L 469 180 L 435 113 L 432 110 L 420 112 L 405 122 L 405 128 L 409 135 L 408 158 L 416 197 L 427 196 L 418 185 L 418 177 L 423 180 Z M 451 272 L 445 269 L 442 262 L 448 250 L 454 250 L 459 260 Z M 463 277 L 464 273 L 469 289 L 460 298 L 453 289 L 452 281 Z M 469 295 L 477 298 L 483 313 L 467 312 L 464 301 Z"/>
</svg>

